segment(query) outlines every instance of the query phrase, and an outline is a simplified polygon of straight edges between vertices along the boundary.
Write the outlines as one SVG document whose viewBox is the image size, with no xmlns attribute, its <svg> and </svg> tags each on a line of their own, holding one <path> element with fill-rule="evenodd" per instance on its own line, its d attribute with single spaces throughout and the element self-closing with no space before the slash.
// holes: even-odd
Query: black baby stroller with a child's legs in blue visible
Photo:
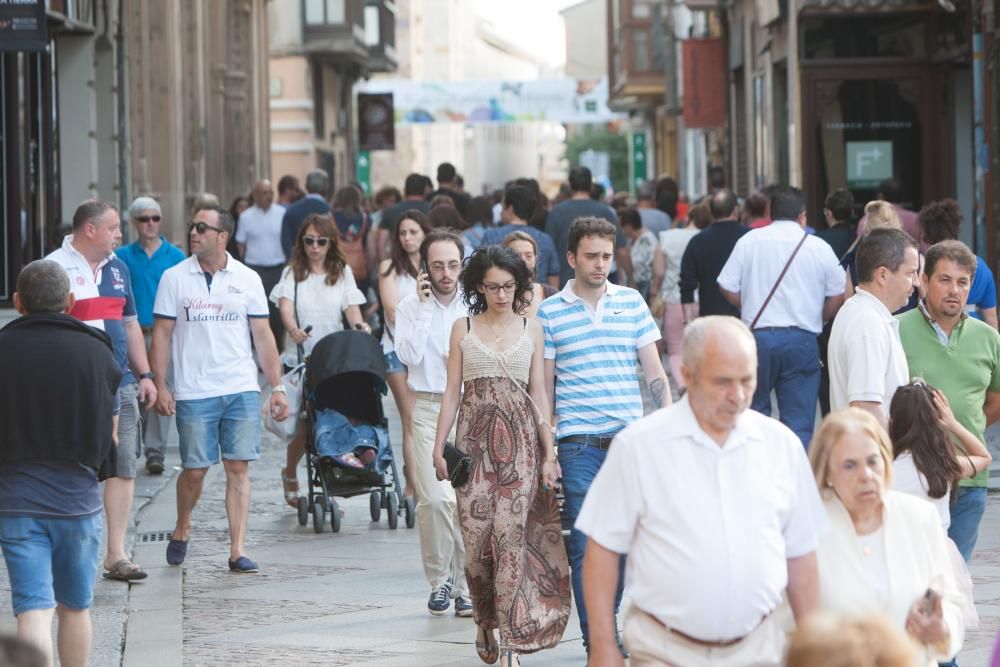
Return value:
<svg viewBox="0 0 1000 667">
<path fill-rule="evenodd" d="M 309 493 L 299 498 L 299 525 L 312 514 L 313 529 L 322 533 L 326 514 L 330 528 L 340 530 L 340 507 L 334 497 L 369 494 L 372 521 L 386 510 L 389 528 L 405 515 L 413 528 L 416 508 L 403 495 L 389 443 L 389 422 L 382 411 L 387 391 L 385 360 L 378 341 L 361 331 L 324 337 L 306 359 L 304 385 L 306 470 Z M 349 456 L 357 454 L 357 456 Z M 364 461 L 364 467 L 341 463 Z"/>
</svg>

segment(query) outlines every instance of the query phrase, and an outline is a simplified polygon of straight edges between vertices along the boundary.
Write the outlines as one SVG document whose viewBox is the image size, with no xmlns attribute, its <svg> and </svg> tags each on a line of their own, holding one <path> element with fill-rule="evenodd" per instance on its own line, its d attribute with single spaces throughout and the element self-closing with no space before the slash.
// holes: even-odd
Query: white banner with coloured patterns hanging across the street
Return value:
<svg viewBox="0 0 1000 667">
<path fill-rule="evenodd" d="M 410 81 L 372 79 L 364 93 L 391 93 L 396 123 L 607 123 L 608 80 Z"/>
</svg>

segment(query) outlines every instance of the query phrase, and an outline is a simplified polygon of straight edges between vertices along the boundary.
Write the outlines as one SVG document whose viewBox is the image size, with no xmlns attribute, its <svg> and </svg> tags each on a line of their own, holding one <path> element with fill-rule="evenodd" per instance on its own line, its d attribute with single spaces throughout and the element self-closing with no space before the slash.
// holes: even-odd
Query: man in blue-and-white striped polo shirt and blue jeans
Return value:
<svg viewBox="0 0 1000 667">
<path fill-rule="evenodd" d="M 569 525 L 576 523 L 615 433 L 642 417 L 636 358 L 653 402 L 661 407 L 670 404 L 667 376 L 656 351 L 660 332 L 646 302 L 634 289 L 608 282 L 616 233 L 603 218 L 577 218 L 570 227 L 566 253 L 575 278 L 538 308 L 545 333 L 545 386 L 558 419 L 564 518 Z M 586 545 L 587 536 L 572 529 L 566 550 L 584 646 L 589 639 L 583 603 Z M 622 583 L 619 575 L 616 614 Z"/>
</svg>

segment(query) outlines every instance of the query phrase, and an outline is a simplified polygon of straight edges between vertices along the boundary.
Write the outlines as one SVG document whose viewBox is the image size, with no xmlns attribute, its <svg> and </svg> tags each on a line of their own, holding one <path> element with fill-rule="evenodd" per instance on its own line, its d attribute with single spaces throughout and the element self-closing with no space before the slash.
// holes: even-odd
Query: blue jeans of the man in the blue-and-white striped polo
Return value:
<svg viewBox="0 0 1000 667">
<path fill-rule="evenodd" d="M 578 442 L 567 442 L 559 445 L 559 467 L 562 468 L 562 487 L 566 504 L 563 506 L 563 525 L 570 527 L 566 538 L 566 554 L 569 556 L 571 581 L 573 584 L 573 600 L 580 616 L 580 632 L 583 641 L 589 638 L 587 625 L 587 607 L 583 602 L 583 552 L 587 548 L 587 536 L 573 528 L 576 517 L 583 507 L 583 499 L 590 489 L 591 482 L 597 476 L 597 471 L 604 464 L 608 453 L 603 449 L 591 447 Z M 618 563 L 618 593 L 615 597 L 615 614 L 622 601 L 622 590 L 625 583 L 625 557 Z"/>
</svg>

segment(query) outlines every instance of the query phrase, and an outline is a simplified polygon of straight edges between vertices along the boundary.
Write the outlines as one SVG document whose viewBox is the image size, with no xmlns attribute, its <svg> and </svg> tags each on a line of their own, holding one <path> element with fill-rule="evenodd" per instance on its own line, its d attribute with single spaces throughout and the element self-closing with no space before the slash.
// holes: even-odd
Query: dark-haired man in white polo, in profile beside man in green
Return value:
<svg viewBox="0 0 1000 667">
<path fill-rule="evenodd" d="M 896 389 L 909 382 L 899 320 L 892 313 L 918 285 L 917 244 L 899 229 L 875 229 L 858 246 L 858 286 L 830 333 L 830 407 L 861 408 L 883 427 Z"/>
</svg>

